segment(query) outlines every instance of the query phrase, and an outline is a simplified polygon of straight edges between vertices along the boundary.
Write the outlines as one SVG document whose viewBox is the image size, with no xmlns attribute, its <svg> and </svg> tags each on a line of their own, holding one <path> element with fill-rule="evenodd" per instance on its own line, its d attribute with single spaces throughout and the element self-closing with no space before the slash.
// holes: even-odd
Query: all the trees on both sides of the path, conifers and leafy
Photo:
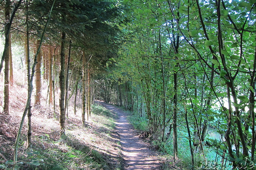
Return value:
<svg viewBox="0 0 256 170">
<path fill-rule="evenodd" d="M 27 89 L 14 162 L 24 126 L 33 149 L 32 107 L 44 101 L 65 135 L 70 115 L 88 126 L 94 100 L 104 100 L 130 111 L 141 137 L 173 166 L 256 168 L 256 0 L 0 4 L 1 124 L 12 119 L 9 88 Z"/>
</svg>

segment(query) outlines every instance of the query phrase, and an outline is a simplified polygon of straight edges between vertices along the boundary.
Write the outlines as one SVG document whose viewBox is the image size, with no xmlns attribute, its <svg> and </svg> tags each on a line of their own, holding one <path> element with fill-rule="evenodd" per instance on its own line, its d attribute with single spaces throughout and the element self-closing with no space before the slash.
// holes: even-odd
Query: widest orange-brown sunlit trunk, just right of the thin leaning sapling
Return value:
<svg viewBox="0 0 256 170">
<path fill-rule="evenodd" d="M 36 41 L 36 49 L 39 47 L 40 40 Z M 35 106 L 40 107 L 41 103 L 41 51 L 37 56 L 36 60 L 36 73 L 35 73 L 35 85 L 36 85 L 36 96 L 35 96 Z"/>
</svg>

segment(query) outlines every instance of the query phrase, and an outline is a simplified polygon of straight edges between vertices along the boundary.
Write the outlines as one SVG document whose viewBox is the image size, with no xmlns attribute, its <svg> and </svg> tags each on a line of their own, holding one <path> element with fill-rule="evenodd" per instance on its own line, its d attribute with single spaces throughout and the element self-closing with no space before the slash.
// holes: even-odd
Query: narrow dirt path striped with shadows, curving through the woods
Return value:
<svg viewBox="0 0 256 170">
<path fill-rule="evenodd" d="M 148 149 L 148 144 L 139 139 L 136 130 L 128 123 L 126 113 L 113 105 L 104 102 L 98 103 L 118 115 L 116 132 L 120 136 L 123 148 L 125 170 L 160 170 L 161 159 L 158 158 L 155 151 Z"/>
</svg>

